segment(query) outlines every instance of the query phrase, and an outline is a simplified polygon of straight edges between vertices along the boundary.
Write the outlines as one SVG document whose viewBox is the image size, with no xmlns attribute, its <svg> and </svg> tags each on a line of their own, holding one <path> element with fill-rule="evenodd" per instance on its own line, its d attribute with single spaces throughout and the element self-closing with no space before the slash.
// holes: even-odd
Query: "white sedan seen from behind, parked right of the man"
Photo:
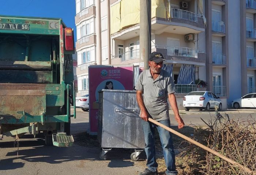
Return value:
<svg viewBox="0 0 256 175">
<path fill-rule="evenodd" d="M 189 111 L 189 109 L 210 111 L 215 106 L 218 107 L 218 110 L 222 110 L 221 99 L 210 91 L 189 92 L 183 98 L 183 106 L 185 107 L 185 111 Z"/>
</svg>

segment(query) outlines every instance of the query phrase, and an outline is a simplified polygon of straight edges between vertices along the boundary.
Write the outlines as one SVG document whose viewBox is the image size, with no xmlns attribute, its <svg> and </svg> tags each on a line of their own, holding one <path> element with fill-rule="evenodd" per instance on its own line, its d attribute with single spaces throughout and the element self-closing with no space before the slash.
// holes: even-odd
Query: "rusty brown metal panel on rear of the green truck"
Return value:
<svg viewBox="0 0 256 175">
<path fill-rule="evenodd" d="M 45 90 L 0 90 L 0 117 L 1 121 L 19 119 L 22 113 L 35 116 L 46 110 Z"/>
</svg>

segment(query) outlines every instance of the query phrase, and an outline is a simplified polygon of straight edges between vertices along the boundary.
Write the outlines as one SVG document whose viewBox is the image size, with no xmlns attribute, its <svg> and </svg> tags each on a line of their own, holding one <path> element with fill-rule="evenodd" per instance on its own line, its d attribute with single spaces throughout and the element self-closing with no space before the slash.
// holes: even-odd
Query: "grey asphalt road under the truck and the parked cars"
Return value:
<svg viewBox="0 0 256 175">
<path fill-rule="evenodd" d="M 72 110 L 71 110 L 72 112 Z M 220 112 L 230 118 L 255 118 L 256 110 L 226 110 Z M 172 127 L 176 127 L 173 113 L 170 111 Z M 180 111 L 185 125 L 205 126 L 204 121 L 216 116 L 215 111 Z M 77 118 L 71 120 L 71 134 L 86 132 L 89 128 L 89 113 L 77 109 Z M 100 160 L 99 147 L 90 148 L 74 143 L 69 148 L 45 146 L 43 138 L 25 135 L 19 141 L 19 149 L 14 148 L 15 138 L 4 137 L 0 141 L 0 175 L 137 175 L 144 170 L 143 162 L 130 160 L 130 153 L 113 150 L 108 160 Z M 18 155 L 17 155 L 18 153 Z"/>
</svg>

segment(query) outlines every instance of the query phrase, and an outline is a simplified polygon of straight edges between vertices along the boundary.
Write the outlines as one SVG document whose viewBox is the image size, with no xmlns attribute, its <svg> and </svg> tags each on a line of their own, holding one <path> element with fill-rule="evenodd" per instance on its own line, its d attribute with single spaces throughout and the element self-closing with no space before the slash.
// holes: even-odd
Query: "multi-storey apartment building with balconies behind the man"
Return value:
<svg viewBox="0 0 256 175">
<path fill-rule="evenodd" d="M 91 64 L 133 64 L 139 72 L 139 0 L 76 0 L 78 93 L 88 93 Z M 163 53 L 178 105 L 209 90 L 223 108 L 256 92 L 255 0 L 151 0 L 151 51 Z M 196 79 L 207 87 L 196 85 Z"/>
</svg>

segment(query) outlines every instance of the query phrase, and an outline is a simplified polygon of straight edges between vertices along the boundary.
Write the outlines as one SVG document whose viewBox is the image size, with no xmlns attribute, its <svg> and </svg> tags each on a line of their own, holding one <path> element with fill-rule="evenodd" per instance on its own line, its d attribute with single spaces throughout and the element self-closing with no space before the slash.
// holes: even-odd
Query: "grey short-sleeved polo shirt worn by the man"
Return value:
<svg viewBox="0 0 256 175">
<path fill-rule="evenodd" d="M 143 91 L 143 102 L 153 119 L 161 121 L 169 118 L 168 94 L 175 92 L 172 77 L 165 70 L 161 70 L 157 79 L 153 79 L 150 69 L 143 71 L 135 86 L 138 91 Z"/>
</svg>

